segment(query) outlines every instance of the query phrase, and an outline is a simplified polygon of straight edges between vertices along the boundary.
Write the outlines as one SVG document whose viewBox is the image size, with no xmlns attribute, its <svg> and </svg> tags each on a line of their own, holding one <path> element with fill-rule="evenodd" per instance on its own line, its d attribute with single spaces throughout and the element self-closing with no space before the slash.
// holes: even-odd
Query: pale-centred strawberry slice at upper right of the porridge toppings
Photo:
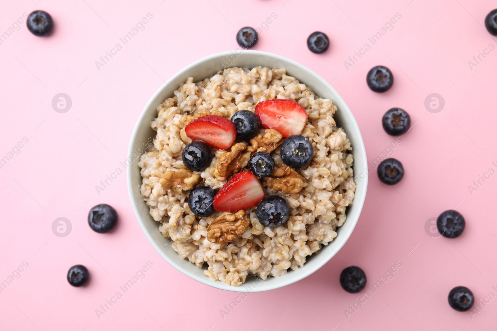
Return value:
<svg viewBox="0 0 497 331">
<path fill-rule="evenodd" d="M 300 134 L 307 124 L 306 110 L 292 100 L 273 99 L 255 105 L 255 115 L 266 129 L 275 129 L 284 137 Z"/>
</svg>

